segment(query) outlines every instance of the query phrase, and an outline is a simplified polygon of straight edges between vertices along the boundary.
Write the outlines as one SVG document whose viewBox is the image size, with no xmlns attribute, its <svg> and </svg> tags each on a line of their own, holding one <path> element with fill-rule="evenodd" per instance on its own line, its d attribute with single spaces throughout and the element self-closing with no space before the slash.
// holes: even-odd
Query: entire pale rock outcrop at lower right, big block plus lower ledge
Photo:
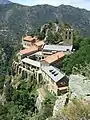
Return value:
<svg viewBox="0 0 90 120">
<path fill-rule="evenodd" d="M 53 109 L 53 117 L 62 112 L 66 104 L 72 104 L 74 98 L 90 103 L 90 80 L 81 75 L 71 75 L 69 79 L 69 93 L 59 96 Z"/>
</svg>

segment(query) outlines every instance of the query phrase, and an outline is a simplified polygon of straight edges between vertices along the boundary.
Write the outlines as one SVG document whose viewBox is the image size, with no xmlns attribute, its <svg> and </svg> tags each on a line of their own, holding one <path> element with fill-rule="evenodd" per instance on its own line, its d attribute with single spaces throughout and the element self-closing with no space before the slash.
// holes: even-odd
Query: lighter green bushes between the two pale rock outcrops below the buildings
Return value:
<svg viewBox="0 0 90 120">
<path fill-rule="evenodd" d="M 34 115 L 30 120 L 45 120 L 53 115 L 53 107 L 56 101 L 56 96 L 46 91 L 45 100 L 42 103 L 42 109 Z"/>
</svg>

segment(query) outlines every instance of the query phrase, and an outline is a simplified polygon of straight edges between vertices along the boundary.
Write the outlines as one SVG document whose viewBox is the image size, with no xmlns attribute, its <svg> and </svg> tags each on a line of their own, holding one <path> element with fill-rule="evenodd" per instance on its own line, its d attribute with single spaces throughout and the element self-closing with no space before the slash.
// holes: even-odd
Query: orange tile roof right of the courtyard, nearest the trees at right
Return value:
<svg viewBox="0 0 90 120">
<path fill-rule="evenodd" d="M 57 60 L 60 60 L 61 58 L 63 58 L 65 56 L 64 52 L 57 52 L 55 54 L 52 54 L 46 58 L 44 58 L 42 61 L 46 61 L 48 62 L 49 64 L 57 61 Z"/>
</svg>

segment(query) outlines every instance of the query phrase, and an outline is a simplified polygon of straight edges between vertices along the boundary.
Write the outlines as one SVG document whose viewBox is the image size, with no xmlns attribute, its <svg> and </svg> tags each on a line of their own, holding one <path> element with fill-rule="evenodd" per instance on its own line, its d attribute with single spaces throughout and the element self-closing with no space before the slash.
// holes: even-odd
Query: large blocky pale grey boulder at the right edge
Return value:
<svg viewBox="0 0 90 120">
<path fill-rule="evenodd" d="M 74 97 L 89 99 L 90 98 L 90 80 L 82 75 L 71 75 L 69 79 L 69 89 L 71 98 Z"/>
</svg>

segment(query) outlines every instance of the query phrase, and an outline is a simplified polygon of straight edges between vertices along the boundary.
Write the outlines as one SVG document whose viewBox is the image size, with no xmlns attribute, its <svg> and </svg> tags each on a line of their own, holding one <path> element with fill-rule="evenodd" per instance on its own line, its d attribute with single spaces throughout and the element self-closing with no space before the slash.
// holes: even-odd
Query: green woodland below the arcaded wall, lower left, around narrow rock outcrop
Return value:
<svg viewBox="0 0 90 120">
<path fill-rule="evenodd" d="M 33 74 L 28 79 L 15 76 L 11 83 L 10 76 L 6 76 L 3 88 L 2 103 L 0 102 L 0 120 L 45 120 L 52 116 L 52 110 L 56 97 L 47 91 L 43 102 L 43 109 L 36 108 L 37 88 Z M 19 82 L 17 89 L 15 85 Z M 35 117 L 35 118 L 33 118 Z"/>
</svg>

